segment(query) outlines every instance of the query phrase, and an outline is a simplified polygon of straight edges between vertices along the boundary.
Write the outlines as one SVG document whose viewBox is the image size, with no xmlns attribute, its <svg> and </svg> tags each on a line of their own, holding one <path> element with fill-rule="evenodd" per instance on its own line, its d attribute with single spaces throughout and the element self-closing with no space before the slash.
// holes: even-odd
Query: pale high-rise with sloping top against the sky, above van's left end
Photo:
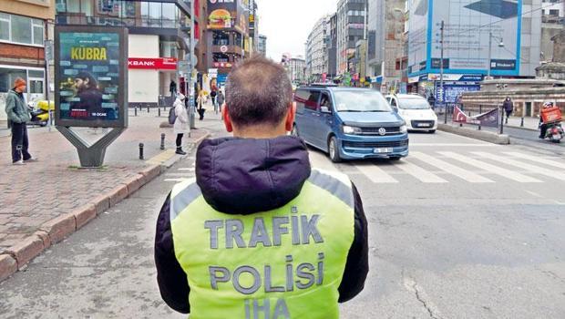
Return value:
<svg viewBox="0 0 565 319">
<path fill-rule="evenodd" d="M 330 15 L 321 17 L 306 41 L 306 77 L 311 82 L 324 80 L 328 73 L 327 39 Z"/>
</svg>

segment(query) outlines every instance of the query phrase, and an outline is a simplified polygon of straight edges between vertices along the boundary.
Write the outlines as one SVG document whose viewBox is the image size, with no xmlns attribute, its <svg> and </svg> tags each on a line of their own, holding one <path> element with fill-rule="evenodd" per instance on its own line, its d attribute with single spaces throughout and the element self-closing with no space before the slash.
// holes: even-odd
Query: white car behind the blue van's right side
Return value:
<svg viewBox="0 0 565 319">
<path fill-rule="evenodd" d="M 395 94 L 386 96 L 386 100 L 406 121 L 408 130 L 436 132 L 437 115 L 426 98 L 411 94 Z"/>
</svg>

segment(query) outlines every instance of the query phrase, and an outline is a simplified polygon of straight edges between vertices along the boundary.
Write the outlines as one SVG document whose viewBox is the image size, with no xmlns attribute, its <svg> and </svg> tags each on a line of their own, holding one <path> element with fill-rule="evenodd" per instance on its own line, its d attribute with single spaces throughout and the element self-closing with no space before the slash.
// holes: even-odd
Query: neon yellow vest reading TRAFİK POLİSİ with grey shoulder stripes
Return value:
<svg viewBox="0 0 565 319">
<path fill-rule="evenodd" d="M 338 318 L 354 240 L 351 182 L 313 170 L 283 207 L 215 211 L 193 181 L 171 193 L 175 254 L 190 284 L 190 318 Z"/>
</svg>

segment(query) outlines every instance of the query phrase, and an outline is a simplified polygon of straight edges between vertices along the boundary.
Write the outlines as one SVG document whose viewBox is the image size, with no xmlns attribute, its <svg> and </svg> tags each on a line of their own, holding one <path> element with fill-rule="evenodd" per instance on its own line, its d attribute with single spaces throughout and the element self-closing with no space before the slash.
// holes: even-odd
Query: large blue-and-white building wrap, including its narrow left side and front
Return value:
<svg viewBox="0 0 565 319">
<path fill-rule="evenodd" d="M 442 20 L 447 73 L 487 74 L 490 68 L 493 76 L 519 76 L 522 0 L 409 0 L 408 5 L 410 77 L 439 73 Z"/>
</svg>

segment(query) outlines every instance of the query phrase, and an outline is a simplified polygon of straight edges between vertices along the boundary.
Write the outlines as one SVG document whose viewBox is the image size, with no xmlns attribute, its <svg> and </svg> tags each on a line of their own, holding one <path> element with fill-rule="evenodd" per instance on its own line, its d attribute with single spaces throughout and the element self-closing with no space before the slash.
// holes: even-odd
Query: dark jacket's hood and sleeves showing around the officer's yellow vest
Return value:
<svg viewBox="0 0 565 319">
<path fill-rule="evenodd" d="M 310 172 L 308 151 L 302 139 L 294 137 L 208 139 L 200 144 L 196 160 L 196 180 L 204 199 L 215 210 L 229 214 L 282 207 L 300 194 Z M 354 186 L 353 195 L 354 242 L 339 286 L 340 303 L 363 290 L 369 271 L 367 221 Z M 163 300 L 180 313 L 190 313 L 190 287 L 175 257 L 170 230 L 170 196 L 157 221 L 155 264 Z"/>
</svg>

